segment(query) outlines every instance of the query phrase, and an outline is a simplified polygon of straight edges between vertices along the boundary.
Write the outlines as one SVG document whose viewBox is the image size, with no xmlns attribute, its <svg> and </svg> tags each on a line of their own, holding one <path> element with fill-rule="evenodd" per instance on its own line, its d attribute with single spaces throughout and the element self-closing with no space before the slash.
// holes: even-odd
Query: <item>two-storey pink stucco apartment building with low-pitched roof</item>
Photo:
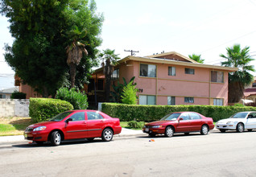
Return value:
<svg viewBox="0 0 256 177">
<path fill-rule="evenodd" d="M 123 83 L 122 77 L 129 81 L 135 76 L 139 105 L 228 105 L 228 74 L 235 71 L 237 68 L 199 64 L 172 51 L 126 56 L 115 66 L 113 81 Z M 88 92 L 100 95 L 105 87 L 102 68 L 93 73 L 92 81 Z"/>
</svg>

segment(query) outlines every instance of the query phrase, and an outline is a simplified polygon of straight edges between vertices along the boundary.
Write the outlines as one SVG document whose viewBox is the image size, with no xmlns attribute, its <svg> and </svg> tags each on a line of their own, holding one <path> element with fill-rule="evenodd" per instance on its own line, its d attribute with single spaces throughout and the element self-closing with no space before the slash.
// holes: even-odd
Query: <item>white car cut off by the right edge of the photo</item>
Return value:
<svg viewBox="0 0 256 177">
<path fill-rule="evenodd" d="M 216 128 L 224 133 L 226 130 L 237 130 L 243 132 L 244 130 L 252 131 L 256 129 L 256 112 L 239 112 L 233 116 L 217 121 Z"/>
</svg>

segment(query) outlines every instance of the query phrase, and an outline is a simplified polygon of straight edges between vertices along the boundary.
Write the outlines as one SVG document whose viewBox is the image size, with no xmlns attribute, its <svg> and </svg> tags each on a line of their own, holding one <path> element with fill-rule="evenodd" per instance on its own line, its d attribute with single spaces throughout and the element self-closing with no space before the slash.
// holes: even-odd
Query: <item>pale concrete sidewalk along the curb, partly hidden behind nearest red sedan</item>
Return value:
<svg viewBox="0 0 256 177">
<path fill-rule="evenodd" d="M 114 135 L 114 138 L 122 138 L 122 137 L 134 137 L 134 136 L 147 136 L 144 134 L 142 130 L 130 130 L 126 128 L 122 128 L 121 134 Z M 17 136 L 0 136 L 0 144 L 3 142 L 22 142 L 24 141 L 23 135 Z"/>
</svg>

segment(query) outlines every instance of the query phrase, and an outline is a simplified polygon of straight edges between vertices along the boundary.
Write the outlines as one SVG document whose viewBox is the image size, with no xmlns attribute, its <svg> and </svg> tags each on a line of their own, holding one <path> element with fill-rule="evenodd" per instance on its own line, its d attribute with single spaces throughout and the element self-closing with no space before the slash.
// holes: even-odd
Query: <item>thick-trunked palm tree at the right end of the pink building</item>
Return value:
<svg viewBox="0 0 256 177">
<path fill-rule="evenodd" d="M 254 72 L 254 66 L 250 65 L 251 58 L 250 47 L 241 49 L 240 44 L 234 44 L 233 47 L 227 47 L 227 56 L 220 56 L 227 61 L 221 62 L 222 66 L 238 68 L 237 72 L 229 73 L 229 103 L 236 103 L 243 97 L 244 89 L 251 84 L 254 76 L 250 72 Z"/>
</svg>

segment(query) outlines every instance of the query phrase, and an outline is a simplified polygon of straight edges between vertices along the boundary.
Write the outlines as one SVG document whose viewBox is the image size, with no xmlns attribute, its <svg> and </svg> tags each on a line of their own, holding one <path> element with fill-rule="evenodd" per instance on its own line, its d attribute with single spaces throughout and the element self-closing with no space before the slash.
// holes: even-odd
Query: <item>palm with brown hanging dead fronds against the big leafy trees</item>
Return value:
<svg viewBox="0 0 256 177">
<path fill-rule="evenodd" d="M 79 42 L 80 39 L 85 37 L 86 31 L 79 31 L 78 27 L 74 26 L 74 29 L 68 31 L 67 35 L 69 39 L 72 40 L 72 42 L 66 47 L 66 53 L 68 55 L 67 63 L 70 68 L 70 83 L 71 88 L 73 88 L 76 80 L 76 65 L 80 64 L 83 53 L 88 55 L 85 44 Z"/>
</svg>

